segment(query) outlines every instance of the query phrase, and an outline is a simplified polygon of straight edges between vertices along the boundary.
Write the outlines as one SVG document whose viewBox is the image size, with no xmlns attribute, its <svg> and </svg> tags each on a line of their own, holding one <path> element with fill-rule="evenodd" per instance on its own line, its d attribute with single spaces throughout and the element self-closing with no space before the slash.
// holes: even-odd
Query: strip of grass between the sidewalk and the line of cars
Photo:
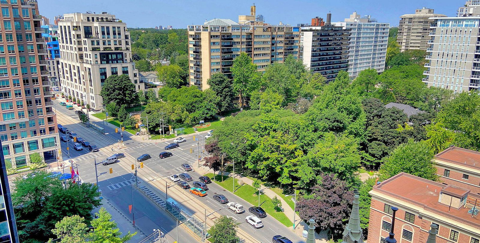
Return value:
<svg viewBox="0 0 480 243">
<path fill-rule="evenodd" d="M 208 173 L 205 174 L 209 178 L 214 177 L 213 173 Z M 222 177 L 220 175 L 215 176 L 216 180 L 214 180 L 215 183 L 219 184 L 223 188 L 227 189 L 228 191 L 232 191 L 232 178 L 228 176 L 224 176 L 224 181 L 222 182 Z M 253 188 L 251 185 L 244 184 L 240 185 L 238 183 L 238 180 L 235 179 L 235 192 L 234 194 L 238 195 L 239 197 L 243 198 L 245 201 L 251 203 L 254 206 L 258 205 L 258 195 L 255 194 L 256 190 Z M 274 209 L 274 205 L 272 204 L 271 199 L 264 195 L 260 195 L 260 206 L 265 210 L 265 212 L 275 218 L 276 220 L 280 221 L 282 224 L 284 224 L 287 227 L 292 226 L 292 222 L 288 217 L 283 213 L 283 212 L 277 212 Z M 247 210 L 248 207 L 247 205 L 244 205 L 245 209 Z"/>
</svg>

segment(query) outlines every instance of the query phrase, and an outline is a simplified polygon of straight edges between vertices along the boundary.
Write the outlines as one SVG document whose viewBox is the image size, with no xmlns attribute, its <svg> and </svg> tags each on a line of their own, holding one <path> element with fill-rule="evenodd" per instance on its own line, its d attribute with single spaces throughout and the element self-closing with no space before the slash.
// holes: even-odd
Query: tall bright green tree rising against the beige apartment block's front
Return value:
<svg viewBox="0 0 480 243">
<path fill-rule="evenodd" d="M 230 68 L 233 75 L 233 91 L 240 96 L 240 107 L 245 106 L 245 99 L 250 96 L 253 90 L 260 87 L 260 74 L 257 72 L 257 65 L 252 63 L 247 53 L 242 52 L 235 58 Z"/>
</svg>

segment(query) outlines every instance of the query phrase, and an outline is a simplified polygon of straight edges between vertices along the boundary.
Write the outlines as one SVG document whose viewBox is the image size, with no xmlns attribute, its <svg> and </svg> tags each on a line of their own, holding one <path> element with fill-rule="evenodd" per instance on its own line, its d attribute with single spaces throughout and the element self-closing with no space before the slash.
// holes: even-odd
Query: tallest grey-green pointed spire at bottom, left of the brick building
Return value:
<svg viewBox="0 0 480 243">
<path fill-rule="evenodd" d="M 363 231 L 360 227 L 359 198 L 360 195 L 358 192 L 355 192 L 350 219 L 348 219 L 348 224 L 343 231 L 343 242 L 345 243 L 363 243 Z"/>
</svg>

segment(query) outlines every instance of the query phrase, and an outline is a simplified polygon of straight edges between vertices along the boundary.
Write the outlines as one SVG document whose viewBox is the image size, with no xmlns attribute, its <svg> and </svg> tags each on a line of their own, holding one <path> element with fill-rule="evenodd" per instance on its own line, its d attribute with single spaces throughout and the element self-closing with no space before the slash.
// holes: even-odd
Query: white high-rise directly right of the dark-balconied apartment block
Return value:
<svg viewBox="0 0 480 243">
<path fill-rule="evenodd" d="M 370 15 L 350 14 L 344 22 L 332 23 L 350 31 L 348 39 L 348 74 L 351 78 L 365 69 L 385 70 L 385 58 L 390 24 L 377 23 Z"/>
</svg>

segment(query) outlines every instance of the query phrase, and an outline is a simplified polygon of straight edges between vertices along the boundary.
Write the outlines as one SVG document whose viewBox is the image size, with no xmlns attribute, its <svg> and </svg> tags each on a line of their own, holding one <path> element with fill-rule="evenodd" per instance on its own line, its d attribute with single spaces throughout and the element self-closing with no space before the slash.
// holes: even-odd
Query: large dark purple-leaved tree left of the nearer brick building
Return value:
<svg viewBox="0 0 480 243">
<path fill-rule="evenodd" d="M 312 192 L 297 202 L 297 210 L 301 219 L 314 219 L 320 230 L 330 230 L 337 238 L 350 215 L 351 202 L 353 193 L 344 181 L 334 174 L 321 173 Z"/>
</svg>

